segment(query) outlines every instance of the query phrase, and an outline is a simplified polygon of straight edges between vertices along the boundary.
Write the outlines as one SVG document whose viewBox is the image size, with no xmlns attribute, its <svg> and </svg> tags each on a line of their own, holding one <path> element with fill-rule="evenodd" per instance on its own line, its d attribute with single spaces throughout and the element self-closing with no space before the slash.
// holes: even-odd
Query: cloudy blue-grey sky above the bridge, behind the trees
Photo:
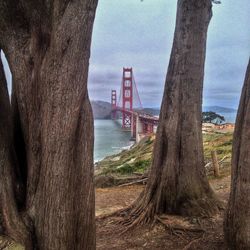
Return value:
<svg viewBox="0 0 250 250">
<path fill-rule="evenodd" d="M 92 40 L 90 98 L 110 101 L 122 68 L 133 67 L 144 107 L 159 107 L 172 47 L 176 0 L 99 0 Z M 250 1 L 213 6 L 204 105 L 237 108 L 250 55 Z"/>
</svg>

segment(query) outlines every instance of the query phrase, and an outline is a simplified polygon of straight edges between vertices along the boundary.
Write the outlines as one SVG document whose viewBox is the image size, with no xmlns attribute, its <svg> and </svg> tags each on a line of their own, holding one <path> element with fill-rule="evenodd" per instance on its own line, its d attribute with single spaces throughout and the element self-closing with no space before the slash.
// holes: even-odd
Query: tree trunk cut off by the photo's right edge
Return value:
<svg viewBox="0 0 250 250">
<path fill-rule="evenodd" d="M 231 192 L 224 222 L 229 249 L 250 249 L 250 61 L 233 139 Z"/>
</svg>

